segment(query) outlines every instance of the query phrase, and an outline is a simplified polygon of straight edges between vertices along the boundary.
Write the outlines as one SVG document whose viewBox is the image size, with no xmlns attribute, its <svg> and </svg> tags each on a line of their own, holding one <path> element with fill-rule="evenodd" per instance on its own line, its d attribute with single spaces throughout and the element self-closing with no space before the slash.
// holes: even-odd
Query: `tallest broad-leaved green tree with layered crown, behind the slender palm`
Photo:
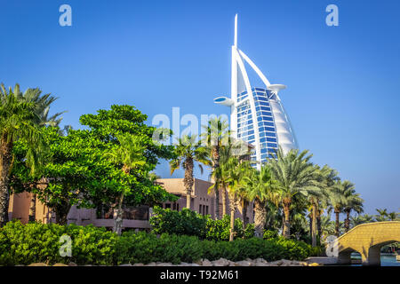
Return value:
<svg viewBox="0 0 400 284">
<path fill-rule="evenodd" d="M 137 137 L 140 146 L 144 147 L 143 159 L 146 163 L 137 164 L 129 174 L 124 172 L 123 163 L 113 163 L 118 171 L 113 171 L 109 181 L 104 183 L 104 189 L 97 191 L 97 202 L 113 206 L 120 204 L 122 193 L 123 206 L 154 206 L 164 201 L 176 200 L 174 195 L 167 193 L 161 185 L 156 185 L 148 175 L 149 171 L 156 169 L 159 159 L 171 160 L 174 152 L 173 146 L 166 146 L 154 139 L 154 134 L 160 132 L 155 127 L 148 126 L 145 123 L 147 119 L 146 114 L 128 105 L 113 105 L 108 110 L 100 109 L 97 114 L 81 116 L 80 122 L 100 141 L 99 149 L 106 156 L 113 149 L 121 147 L 121 141 L 118 139 L 121 135 Z M 166 130 L 162 131 L 161 135 L 169 137 L 171 133 L 171 130 Z M 168 137 L 160 138 L 163 140 Z M 109 162 L 107 158 L 104 161 Z"/>
</svg>

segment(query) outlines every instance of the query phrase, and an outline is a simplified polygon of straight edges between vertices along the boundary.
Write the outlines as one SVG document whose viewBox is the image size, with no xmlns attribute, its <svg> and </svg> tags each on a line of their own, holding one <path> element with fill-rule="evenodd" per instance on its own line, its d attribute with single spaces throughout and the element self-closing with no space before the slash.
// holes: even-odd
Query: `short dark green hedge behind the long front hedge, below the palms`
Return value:
<svg viewBox="0 0 400 284">
<path fill-rule="evenodd" d="M 180 211 L 155 207 L 150 225 L 154 233 L 196 236 L 201 240 L 228 241 L 230 217 L 225 215 L 220 220 L 214 220 L 210 215 L 198 214 L 190 209 Z M 244 228 L 240 218 L 235 219 L 235 238 L 249 239 L 254 235 L 254 225 Z"/>
</svg>

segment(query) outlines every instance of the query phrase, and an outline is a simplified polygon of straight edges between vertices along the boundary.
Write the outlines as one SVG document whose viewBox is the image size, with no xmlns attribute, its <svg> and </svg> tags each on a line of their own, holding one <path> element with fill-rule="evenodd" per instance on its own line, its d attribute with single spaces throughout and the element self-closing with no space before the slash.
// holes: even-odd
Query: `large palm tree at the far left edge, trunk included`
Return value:
<svg viewBox="0 0 400 284">
<path fill-rule="evenodd" d="M 22 93 L 19 84 L 8 91 L 3 83 L 0 86 L 0 226 L 8 221 L 12 148 L 18 140 L 26 142 L 28 151 L 24 160 L 31 172 L 35 172 L 40 153 L 45 150 L 41 128 L 45 121 L 53 121 L 59 115 L 47 117 L 54 100 L 50 94 L 42 96 L 39 89 Z"/>
</svg>

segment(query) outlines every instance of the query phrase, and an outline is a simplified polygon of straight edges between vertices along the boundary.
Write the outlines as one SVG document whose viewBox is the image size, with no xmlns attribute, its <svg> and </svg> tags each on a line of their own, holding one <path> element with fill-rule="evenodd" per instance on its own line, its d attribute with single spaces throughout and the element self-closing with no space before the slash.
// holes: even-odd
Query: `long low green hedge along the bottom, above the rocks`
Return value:
<svg viewBox="0 0 400 284">
<path fill-rule="evenodd" d="M 60 236 L 72 239 L 72 256 L 60 256 Z M 44 225 L 20 221 L 9 222 L 0 228 L 0 265 L 49 264 L 75 262 L 76 264 L 126 264 L 149 262 L 195 262 L 227 258 L 232 261 L 262 257 L 302 260 L 311 253 L 302 241 L 277 237 L 269 240 L 257 238 L 235 241 L 200 240 L 196 236 L 133 233 L 122 236 L 106 232 L 92 225 Z"/>
</svg>

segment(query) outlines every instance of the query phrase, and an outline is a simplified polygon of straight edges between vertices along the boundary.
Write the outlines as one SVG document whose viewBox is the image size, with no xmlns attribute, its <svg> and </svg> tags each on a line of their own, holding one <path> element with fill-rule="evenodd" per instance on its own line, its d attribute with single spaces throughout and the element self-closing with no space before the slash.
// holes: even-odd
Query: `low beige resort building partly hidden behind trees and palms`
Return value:
<svg viewBox="0 0 400 284">
<path fill-rule="evenodd" d="M 160 178 L 156 182 L 162 185 L 165 190 L 179 197 L 175 202 L 163 203 L 163 208 L 180 211 L 186 208 L 186 190 L 183 185 L 183 178 Z M 191 208 L 203 215 L 211 215 L 215 218 L 216 201 L 213 193 L 209 193 L 211 182 L 195 178 L 194 190 L 191 193 Z M 228 195 L 228 194 L 227 194 Z M 19 219 L 22 223 L 28 223 L 29 207 L 31 202 L 31 193 L 12 194 L 8 209 L 9 219 Z M 229 201 L 227 196 L 227 214 L 229 214 Z M 220 192 L 220 215 L 222 215 L 222 193 Z M 148 219 L 151 215 L 151 208 L 148 206 L 140 206 L 136 208 L 124 209 L 124 229 L 148 230 L 151 226 Z M 243 209 L 239 206 L 236 209 L 235 217 L 243 219 Z M 253 222 L 253 203 L 251 202 L 247 209 L 246 221 Z M 44 224 L 55 223 L 55 214 L 44 206 L 44 204 L 36 200 L 36 221 Z M 68 224 L 76 225 L 95 225 L 112 229 L 114 225 L 113 212 L 99 212 L 98 209 L 77 209 L 72 207 L 68 213 Z"/>
</svg>

